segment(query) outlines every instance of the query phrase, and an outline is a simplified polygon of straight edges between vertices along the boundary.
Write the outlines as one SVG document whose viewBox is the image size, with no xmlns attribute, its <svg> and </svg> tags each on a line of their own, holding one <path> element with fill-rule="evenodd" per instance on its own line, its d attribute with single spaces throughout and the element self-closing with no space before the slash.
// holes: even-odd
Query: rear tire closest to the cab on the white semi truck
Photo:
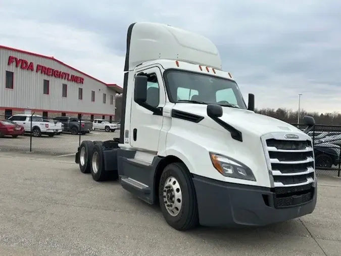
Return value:
<svg viewBox="0 0 341 256">
<path fill-rule="evenodd" d="M 91 157 L 91 175 L 94 181 L 105 181 L 108 179 L 109 173 L 104 169 L 104 158 L 102 145 L 96 143 L 93 146 Z"/>
</svg>

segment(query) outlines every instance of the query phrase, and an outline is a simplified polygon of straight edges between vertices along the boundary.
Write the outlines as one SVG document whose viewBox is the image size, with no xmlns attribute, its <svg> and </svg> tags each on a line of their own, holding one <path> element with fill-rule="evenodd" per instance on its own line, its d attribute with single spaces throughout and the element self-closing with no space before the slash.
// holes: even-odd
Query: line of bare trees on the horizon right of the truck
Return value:
<svg viewBox="0 0 341 256">
<path fill-rule="evenodd" d="M 271 116 L 288 123 L 297 123 L 298 110 L 294 111 L 292 109 L 285 108 L 262 108 L 255 109 L 256 113 Z M 302 123 L 302 118 L 305 115 L 310 115 L 315 118 L 316 124 L 327 124 L 327 125 L 341 125 L 341 113 L 336 111 L 332 113 L 318 113 L 318 112 L 307 112 L 305 110 L 300 111 L 300 123 Z"/>
</svg>

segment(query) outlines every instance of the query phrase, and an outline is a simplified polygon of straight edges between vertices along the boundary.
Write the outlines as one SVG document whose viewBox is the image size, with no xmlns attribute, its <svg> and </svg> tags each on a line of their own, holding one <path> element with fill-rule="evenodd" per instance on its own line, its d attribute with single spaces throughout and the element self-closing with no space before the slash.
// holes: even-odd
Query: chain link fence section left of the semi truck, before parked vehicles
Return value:
<svg viewBox="0 0 341 256">
<path fill-rule="evenodd" d="M 14 117 L 14 116 L 13 116 Z M 73 155 L 80 142 L 120 137 L 120 123 L 65 117 L 63 120 L 20 115 L 0 116 L 0 151 Z M 18 120 L 17 120 L 18 119 Z"/>
</svg>

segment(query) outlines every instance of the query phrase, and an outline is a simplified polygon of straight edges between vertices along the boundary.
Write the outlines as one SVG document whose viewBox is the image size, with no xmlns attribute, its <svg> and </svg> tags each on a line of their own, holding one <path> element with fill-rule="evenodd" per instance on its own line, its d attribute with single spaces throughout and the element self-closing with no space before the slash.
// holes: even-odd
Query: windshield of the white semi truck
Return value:
<svg viewBox="0 0 341 256">
<path fill-rule="evenodd" d="M 219 104 L 247 109 L 235 81 L 180 70 L 165 73 L 171 102 Z"/>
</svg>

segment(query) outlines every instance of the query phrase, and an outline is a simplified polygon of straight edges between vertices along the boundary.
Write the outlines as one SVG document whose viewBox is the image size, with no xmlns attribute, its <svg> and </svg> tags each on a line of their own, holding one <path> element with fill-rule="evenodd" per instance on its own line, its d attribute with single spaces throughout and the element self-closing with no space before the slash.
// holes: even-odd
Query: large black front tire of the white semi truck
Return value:
<svg viewBox="0 0 341 256">
<path fill-rule="evenodd" d="M 165 188 L 165 184 L 169 187 Z M 178 189 L 181 193 L 177 191 Z M 171 196 L 169 192 L 175 194 L 174 201 L 171 200 L 172 198 L 168 198 Z M 170 206 L 170 201 L 173 202 L 171 204 L 174 207 L 173 212 L 166 206 L 166 204 Z M 171 163 L 164 168 L 159 183 L 159 202 L 166 222 L 174 229 L 189 230 L 199 226 L 196 191 L 185 164 Z M 180 206 L 177 208 L 178 210 L 176 205 Z"/>
</svg>

